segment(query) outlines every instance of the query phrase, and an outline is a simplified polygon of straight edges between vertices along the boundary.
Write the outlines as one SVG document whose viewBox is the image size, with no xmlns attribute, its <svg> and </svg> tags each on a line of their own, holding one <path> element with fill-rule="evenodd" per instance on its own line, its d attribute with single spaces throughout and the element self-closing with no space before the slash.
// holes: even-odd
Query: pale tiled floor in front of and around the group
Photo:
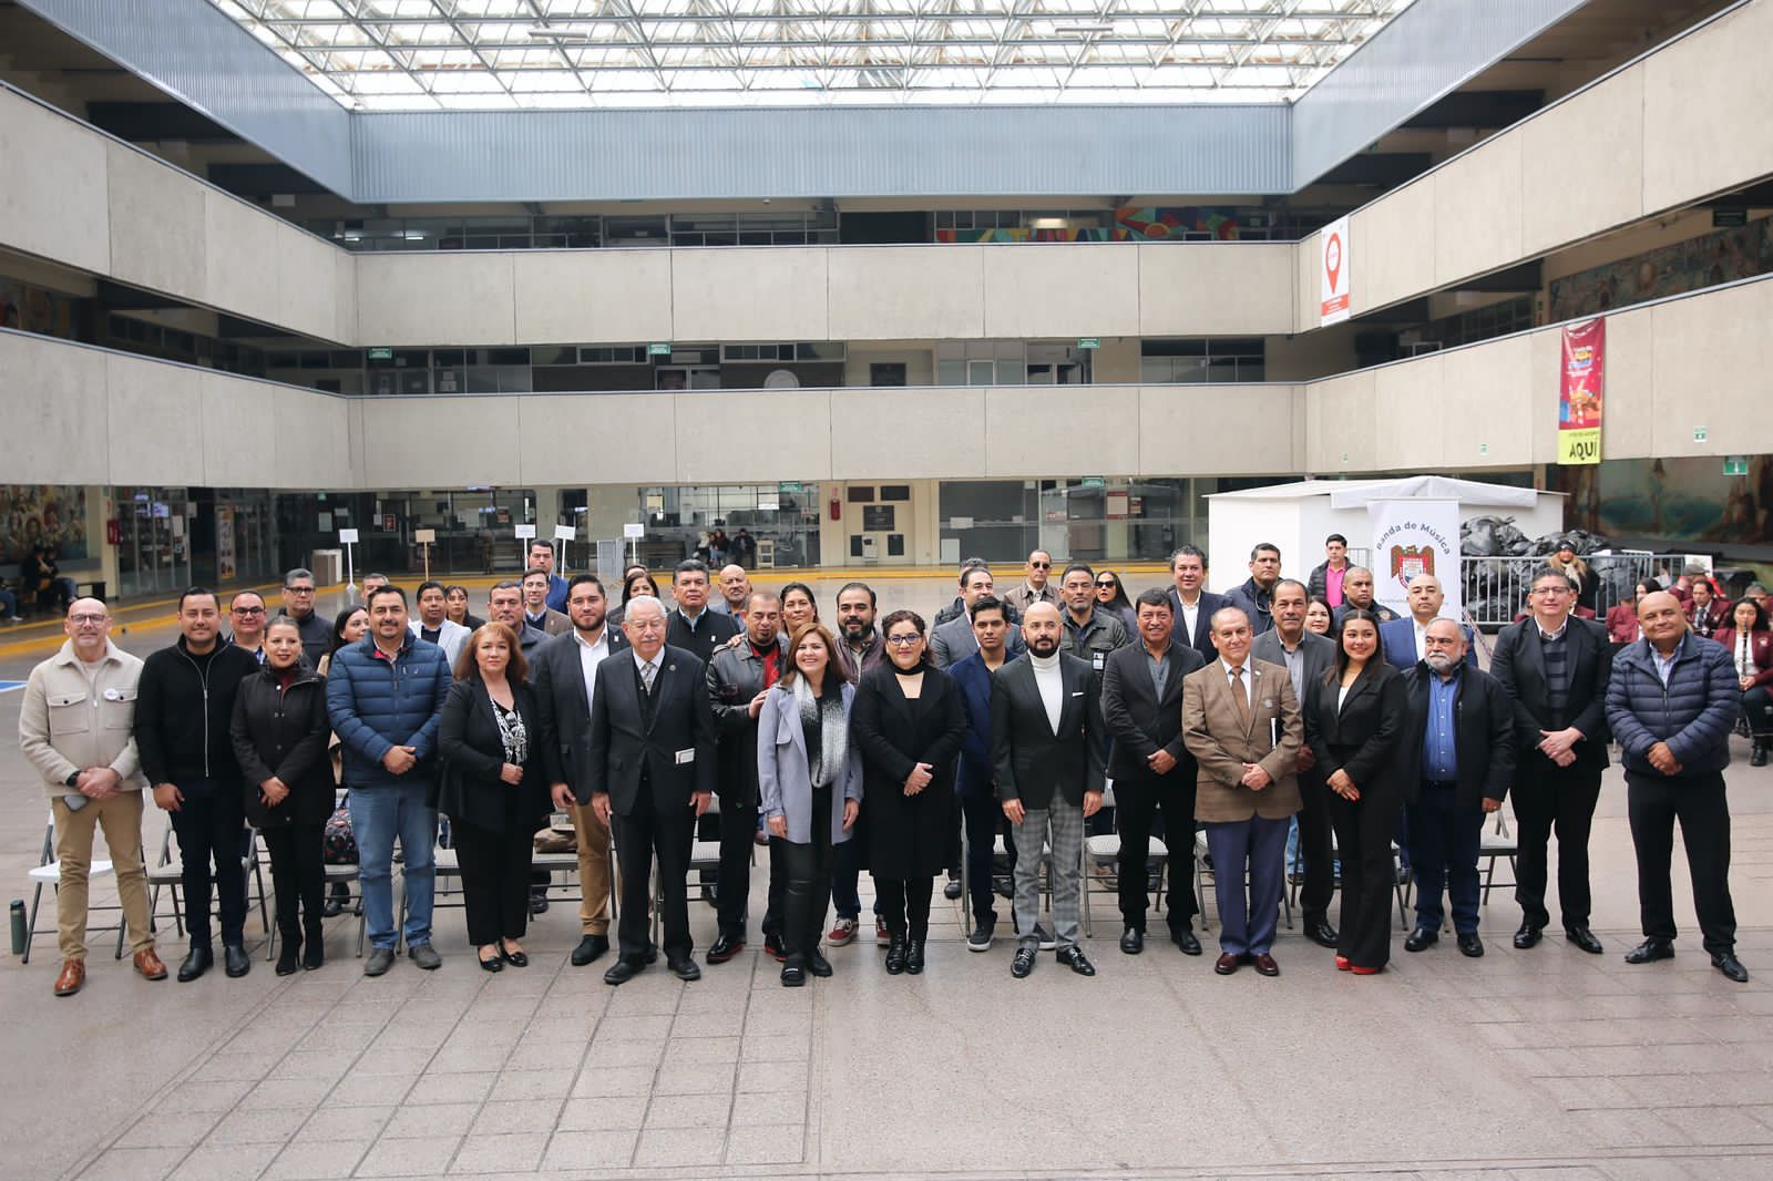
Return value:
<svg viewBox="0 0 1773 1181">
<path fill-rule="evenodd" d="M 23 894 L 44 810 L 16 716 L 0 695 L 0 876 Z M 1406 956 L 1399 938 L 1374 979 L 1298 935 L 1273 981 L 1220 979 L 1158 940 L 1126 958 L 1106 894 L 1094 981 L 1051 958 L 1012 981 L 1007 943 L 968 954 L 941 901 L 926 975 L 885 975 L 858 940 L 798 991 L 755 943 L 697 984 L 651 970 L 606 988 L 601 961 L 567 963 L 569 904 L 534 927 L 532 966 L 498 975 L 443 910 L 434 974 L 363 979 L 339 919 L 321 972 L 278 979 L 261 959 L 243 981 L 147 984 L 94 954 L 87 989 L 57 1000 L 51 935 L 0 966 L 0 1176 L 1764 1181 L 1773 768 L 1730 770 L 1746 986 L 1699 950 L 1679 869 L 1679 958 L 1621 961 L 1636 940 L 1622 794 L 1615 771 L 1592 842 L 1605 956 L 1562 938 L 1512 950 L 1498 888 L 1488 956 Z M 691 919 L 706 947 L 713 911 Z M 163 950 L 183 954 L 170 924 Z"/>
</svg>

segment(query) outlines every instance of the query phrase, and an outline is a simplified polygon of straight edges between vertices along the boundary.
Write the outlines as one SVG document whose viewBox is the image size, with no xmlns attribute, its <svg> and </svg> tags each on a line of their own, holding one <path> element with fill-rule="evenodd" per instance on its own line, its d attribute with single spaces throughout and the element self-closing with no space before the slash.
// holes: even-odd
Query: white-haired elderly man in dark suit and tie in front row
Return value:
<svg viewBox="0 0 1773 1181">
<path fill-rule="evenodd" d="M 598 665 L 585 766 L 573 789 L 598 819 L 610 825 L 615 817 L 622 896 L 629 899 L 617 924 L 621 959 L 603 974 L 606 984 L 626 984 L 654 954 L 647 908 L 638 904 L 651 890 L 654 856 L 665 963 L 677 979 L 702 977 L 690 956 L 684 880 L 695 821 L 715 791 L 715 713 L 706 667 L 693 653 L 668 647 L 665 628 L 663 603 L 645 594 L 628 601 L 622 631 L 631 651 Z"/>
</svg>

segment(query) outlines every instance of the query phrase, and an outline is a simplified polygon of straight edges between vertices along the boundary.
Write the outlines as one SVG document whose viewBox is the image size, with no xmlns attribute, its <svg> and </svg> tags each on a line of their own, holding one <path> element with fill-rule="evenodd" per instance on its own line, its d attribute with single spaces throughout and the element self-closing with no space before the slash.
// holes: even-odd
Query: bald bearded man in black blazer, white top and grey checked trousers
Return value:
<svg viewBox="0 0 1773 1181">
<path fill-rule="evenodd" d="M 1051 846 L 1053 936 L 1058 961 L 1096 975 L 1078 947 L 1083 821 L 1103 805 L 1101 692 L 1089 661 L 1060 653 L 1064 624 L 1051 603 L 1023 617 L 1028 654 L 991 674 L 991 757 L 998 800 L 1016 841 L 1016 959 L 1034 972 L 1041 949 L 1041 855 Z"/>
</svg>

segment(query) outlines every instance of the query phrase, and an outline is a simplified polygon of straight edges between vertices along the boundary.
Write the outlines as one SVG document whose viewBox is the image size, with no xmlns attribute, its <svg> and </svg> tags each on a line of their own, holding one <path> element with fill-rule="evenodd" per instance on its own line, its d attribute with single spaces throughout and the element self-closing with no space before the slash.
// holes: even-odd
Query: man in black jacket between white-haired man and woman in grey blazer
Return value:
<svg viewBox="0 0 1773 1181">
<path fill-rule="evenodd" d="M 720 732 L 720 938 L 707 949 L 707 963 L 727 963 L 745 950 L 745 904 L 752 894 L 752 849 L 757 848 L 757 715 L 769 686 L 789 667 L 789 654 L 777 642 L 782 599 L 752 590 L 745 601 L 745 640 L 722 647 L 707 661 L 707 700 Z M 771 855 L 775 853 L 771 844 Z M 775 935 L 787 880 L 769 858 L 769 908 L 764 911 L 764 947 L 782 949 Z M 780 958 L 780 956 L 778 956 Z"/>
</svg>

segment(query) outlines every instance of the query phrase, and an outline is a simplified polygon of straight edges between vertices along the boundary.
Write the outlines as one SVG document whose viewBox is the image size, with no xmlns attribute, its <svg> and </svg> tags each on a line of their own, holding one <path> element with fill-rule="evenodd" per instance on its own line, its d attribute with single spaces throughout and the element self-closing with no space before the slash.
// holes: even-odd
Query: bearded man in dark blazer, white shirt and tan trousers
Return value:
<svg viewBox="0 0 1773 1181">
<path fill-rule="evenodd" d="M 610 826 L 574 798 L 590 736 L 590 700 L 598 665 L 628 649 L 628 637 L 606 624 L 608 598 L 596 575 L 574 575 L 567 583 L 566 614 L 573 631 L 535 649 L 530 686 L 543 732 L 532 736 L 555 807 L 573 817 L 578 837 L 580 940 L 573 966 L 583 968 L 610 950 Z"/>
</svg>

